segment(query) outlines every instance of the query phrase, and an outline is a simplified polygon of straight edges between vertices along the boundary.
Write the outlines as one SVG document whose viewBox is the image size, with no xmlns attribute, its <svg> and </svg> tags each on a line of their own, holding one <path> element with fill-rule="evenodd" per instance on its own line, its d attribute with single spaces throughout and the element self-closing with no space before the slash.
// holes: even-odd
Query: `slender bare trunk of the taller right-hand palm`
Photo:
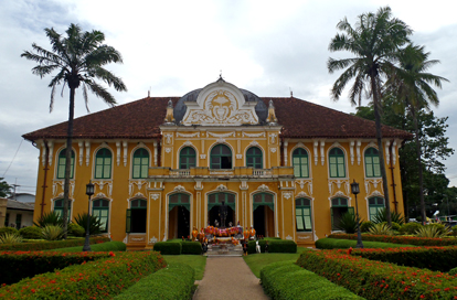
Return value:
<svg viewBox="0 0 457 300">
<path fill-rule="evenodd" d="M 370 75 L 371 78 L 371 88 L 373 92 L 373 106 L 374 106 L 374 124 L 376 127 L 376 140 L 378 140 L 378 150 L 380 153 L 380 167 L 381 167 L 381 176 L 382 176 L 382 188 L 384 190 L 384 201 L 385 201 L 385 211 L 389 226 L 392 227 L 392 217 L 391 217 L 391 202 L 389 199 L 389 185 L 387 185 L 387 174 L 385 172 L 384 163 L 384 151 L 382 147 L 382 131 L 381 131 L 381 116 L 379 111 L 380 106 L 380 95 L 378 92 L 378 84 L 374 78 L 375 75 Z"/>
</svg>

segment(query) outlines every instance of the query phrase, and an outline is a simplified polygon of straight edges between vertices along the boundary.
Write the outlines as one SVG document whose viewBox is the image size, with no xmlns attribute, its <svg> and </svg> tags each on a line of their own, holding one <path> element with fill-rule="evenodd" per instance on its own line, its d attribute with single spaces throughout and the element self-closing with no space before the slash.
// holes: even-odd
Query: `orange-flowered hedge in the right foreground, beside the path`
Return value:
<svg viewBox="0 0 457 300">
<path fill-rule="evenodd" d="M 366 299 L 455 299 L 457 278 L 348 254 L 305 250 L 297 265 Z"/>
</svg>

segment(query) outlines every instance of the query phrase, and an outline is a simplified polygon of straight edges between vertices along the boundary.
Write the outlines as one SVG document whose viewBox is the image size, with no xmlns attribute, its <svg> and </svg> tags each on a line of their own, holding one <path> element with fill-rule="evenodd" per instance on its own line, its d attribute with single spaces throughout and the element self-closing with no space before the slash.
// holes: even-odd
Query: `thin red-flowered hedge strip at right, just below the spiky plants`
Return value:
<svg viewBox="0 0 457 300">
<path fill-rule="evenodd" d="M 343 238 L 343 239 L 357 239 L 357 234 L 332 234 L 330 238 Z M 363 240 L 369 242 L 383 242 L 415 246 L 454 246 L 457 245 L 457 238 L 432 238 L 432 237 L 415 237 L 415 236 L 401 236 L 401 235 L 362 235 Z"/>
</svg>

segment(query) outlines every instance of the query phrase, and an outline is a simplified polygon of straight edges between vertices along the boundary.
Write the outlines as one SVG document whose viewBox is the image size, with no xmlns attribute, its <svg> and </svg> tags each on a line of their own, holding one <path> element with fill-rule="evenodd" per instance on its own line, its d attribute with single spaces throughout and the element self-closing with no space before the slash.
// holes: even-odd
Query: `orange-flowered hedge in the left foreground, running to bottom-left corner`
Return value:
<svg viewBox="0 0 457 300">
<path fill-rule="evenodd" d="M 0 288 L 0 299 L 111 299 L 166 267 L 155 251 L 111 253 L 113 257 L 73 265 Z"/>
</svg>

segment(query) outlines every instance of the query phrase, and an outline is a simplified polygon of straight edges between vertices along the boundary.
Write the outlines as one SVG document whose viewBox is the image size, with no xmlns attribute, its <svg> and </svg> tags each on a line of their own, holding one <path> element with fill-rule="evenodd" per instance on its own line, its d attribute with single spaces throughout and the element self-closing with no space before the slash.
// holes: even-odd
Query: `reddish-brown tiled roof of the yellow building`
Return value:
<svg viewBox="0 0 457 300">
<path fill-rule="evenodd" d="M 105 109 L 74 120 L 75 139 L 151 139 L 160 137 L 168 100 L 180 97 L 147 97 Z M 374 121 L 297 98 L 262 98 L 275 105 L 276 117 L 285 138 L 374 138 Z M 67 122 L 50 126 L 22 137 L 28 140 L 64 139 Z M 383 126 L 383 137 L 408 139 L 406 131 Z"/>
</svg>

